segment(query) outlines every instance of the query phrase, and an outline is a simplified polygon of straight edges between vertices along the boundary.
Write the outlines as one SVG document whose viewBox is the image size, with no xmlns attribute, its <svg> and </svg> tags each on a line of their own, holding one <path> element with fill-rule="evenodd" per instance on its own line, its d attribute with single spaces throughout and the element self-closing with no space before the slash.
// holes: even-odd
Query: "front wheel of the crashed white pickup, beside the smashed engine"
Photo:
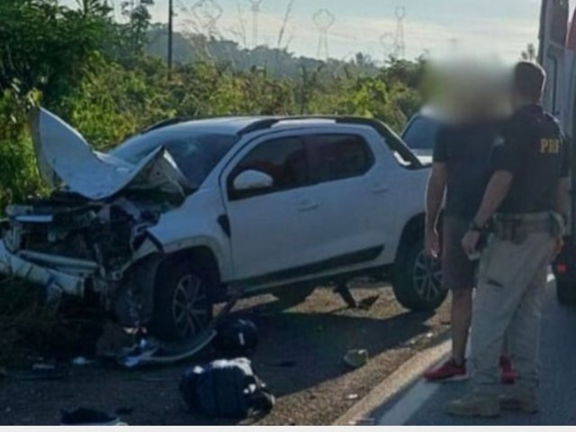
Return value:
<svg viewBox="0 0 576 432">
<path fill-rule="evenodd" d="M 194 338 L 212 319 L 210 272 L 188 260 L 167 261 L 157 272 L 150 332 L 164 340 Z"/>
</svg>

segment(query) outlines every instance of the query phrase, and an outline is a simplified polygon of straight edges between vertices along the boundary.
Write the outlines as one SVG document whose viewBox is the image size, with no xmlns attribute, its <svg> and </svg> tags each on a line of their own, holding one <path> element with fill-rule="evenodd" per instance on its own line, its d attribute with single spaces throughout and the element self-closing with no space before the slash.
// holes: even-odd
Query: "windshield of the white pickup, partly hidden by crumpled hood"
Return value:
<svg viewBox="0 0 576 432">
<path fill-rule="evenodd" d="M 197 189 L 237 140 L 238 136 L 231 134 L 165 128 L 130 138 L 110 154 L 137 164 L 150 152 L 164 146 L 174 158 L 178 169 Z"/>
</svg>

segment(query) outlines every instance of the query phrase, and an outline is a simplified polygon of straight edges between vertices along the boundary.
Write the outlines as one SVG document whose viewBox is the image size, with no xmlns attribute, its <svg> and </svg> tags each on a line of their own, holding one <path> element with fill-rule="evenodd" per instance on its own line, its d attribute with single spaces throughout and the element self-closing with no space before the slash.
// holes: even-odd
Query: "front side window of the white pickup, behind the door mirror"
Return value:
<svg viewBox="0 0 576 432">
<path fill-rule="evenodd" d="M 234 179 L 245 171 L 254 170 L 270 175 L 274 184 L 257 191 L 235 191 Z M 241 199 L 264 193 L 275 193 L 310 184 L 308 157 L 302 139 L 296 137 L 270 139 L 242 158 L 229 175 L 230 199 Z"/>
</svg>

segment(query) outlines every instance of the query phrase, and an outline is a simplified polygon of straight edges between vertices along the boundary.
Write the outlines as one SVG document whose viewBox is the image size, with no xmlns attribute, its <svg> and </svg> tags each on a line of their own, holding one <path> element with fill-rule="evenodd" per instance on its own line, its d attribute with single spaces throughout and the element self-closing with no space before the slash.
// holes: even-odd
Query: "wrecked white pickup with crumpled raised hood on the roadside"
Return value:
<svg viewBox="0 0 576 432">
<path fill-rule="evenodd" d="M 392 276 L 405 307 L 446 298 L 423 253 L 428 169 L 382 122 L 165 121 L 108 154 L 41 110 L 49 198 L 7 209 L 0 273 L 97 299 L 125 325 L 190 338 L 229 293 L 303 301 Z"/>
</svg>

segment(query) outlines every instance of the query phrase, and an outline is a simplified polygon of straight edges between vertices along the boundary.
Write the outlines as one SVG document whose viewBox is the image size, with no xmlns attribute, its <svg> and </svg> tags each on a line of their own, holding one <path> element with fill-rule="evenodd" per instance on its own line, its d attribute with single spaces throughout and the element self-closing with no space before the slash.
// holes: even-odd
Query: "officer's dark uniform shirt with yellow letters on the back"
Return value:
<svg viewBox="0 0 576 432">
<path fill-rule="evenodd" d="M 536 213 L 555 208 L 560 178 L 569 175 L 568 146 L 560 125 L 540 105 L 527 105 L 507 121 L 492 150 L 493 171 L 513 175 L 500 213 Z"/>
</svg>

